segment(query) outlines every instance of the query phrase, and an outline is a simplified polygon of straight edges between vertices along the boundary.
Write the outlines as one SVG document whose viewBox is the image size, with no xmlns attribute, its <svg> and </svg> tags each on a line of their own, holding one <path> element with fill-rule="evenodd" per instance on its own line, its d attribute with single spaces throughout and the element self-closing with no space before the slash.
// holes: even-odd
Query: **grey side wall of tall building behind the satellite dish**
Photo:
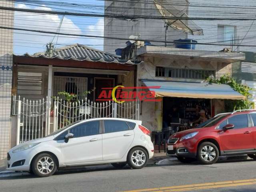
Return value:
<svg viewBox="0 0 256 192">
<path fill-rule="evenodd" d="M 145 0 L 146 3 L 134 2 L 127 0 L 126 2 L 114 2 L 105 1 L 105 14 L 123 14 L 123 15 L 143 15 L 143 16 L 161 16 L 156 10 L 153 0 Z M 180 0 L 180 2 L 186 2 Z M 123 7 L 120 12 L 117 12 L 117 8 L 113 6 Z M 150 11 L 151 9 L 151 11 Z M 153 10 L 153 11 L 152 11 Z M 151 19 L 139 19 L 136 22 L 120 20 L 115 18 L 104 18 L 104 36 L 109 37 L 121 37 L 129 38 L 130 35 L 141 35 L 142 39 L 165 39 L 165 28 L 163 20 L 151 20 Z M 186 34 L 174 30 L 168 29 L 167 40 L 176 40 L 179 38 L 186 38 Z M 104 51 L 115 53 L 115 49 L 126 47 L 127 40 L 112 40 L 104 39 Z M 164 45 L 164 43 L 154 42 L 154 45 Z"/>
</svg>

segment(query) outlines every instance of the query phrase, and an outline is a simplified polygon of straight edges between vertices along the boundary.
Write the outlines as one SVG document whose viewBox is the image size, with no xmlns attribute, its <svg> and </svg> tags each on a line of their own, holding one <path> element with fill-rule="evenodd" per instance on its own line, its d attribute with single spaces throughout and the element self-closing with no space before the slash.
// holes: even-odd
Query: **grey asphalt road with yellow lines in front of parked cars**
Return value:
<svg viewBox="0 0 256 192">
<path fill-rule="evenodd" d="M 208 183 L 208 184 L 205 184 Z M 174 164 L 141 170 L 111 165 L 61 171 L 48 178 L 32 175 L 0 178 L 0 192 L 256 192 L 256 161 L 213 165 Z"/>
</svg>

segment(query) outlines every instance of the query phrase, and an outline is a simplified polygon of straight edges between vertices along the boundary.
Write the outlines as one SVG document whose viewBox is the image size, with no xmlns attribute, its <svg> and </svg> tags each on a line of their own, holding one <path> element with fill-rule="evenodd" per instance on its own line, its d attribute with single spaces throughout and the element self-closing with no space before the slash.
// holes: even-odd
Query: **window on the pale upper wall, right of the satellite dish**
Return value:
<svg viewBox="0 0 256 192">
<path fill-rule="evenodd" d="M 222 41 L 222 43 L 230 41 L 234 44 L 236 42 L 236 26 L 218 25 L 218 41 Z"/>
</svg>

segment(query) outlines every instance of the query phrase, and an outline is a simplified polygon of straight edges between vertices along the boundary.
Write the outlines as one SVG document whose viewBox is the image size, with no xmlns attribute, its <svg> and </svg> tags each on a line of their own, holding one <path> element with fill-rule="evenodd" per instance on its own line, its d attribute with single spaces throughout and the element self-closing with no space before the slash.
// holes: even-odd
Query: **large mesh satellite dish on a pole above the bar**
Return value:
<svg viewBox="0 0 256 192">
<path fill-rule="evenodd" d="M 188 0 L 186 0 L 188 2 Z M 170 4 L 167 0 L 154 0 L 154 4 L 163 17 L 184 17 L 188 18 L 185 10 L 179 10 Z M 174 19 L 165 19 L 166 28 L 169 26 L 180 30 L 184 33 L 192 34 L 192 35 L 204 35 L 202 28 L 200 28 L 195 22 L 192 20 L 174 20 Z"/>
</svg>

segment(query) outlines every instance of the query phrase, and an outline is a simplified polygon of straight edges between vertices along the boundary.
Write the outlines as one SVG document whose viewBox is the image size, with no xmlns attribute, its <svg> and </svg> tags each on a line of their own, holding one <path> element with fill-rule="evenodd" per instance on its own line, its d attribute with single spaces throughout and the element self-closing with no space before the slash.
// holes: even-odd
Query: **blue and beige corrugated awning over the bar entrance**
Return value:
<svg viewBox="0 0 256 192">
<path fill-rule="evenodd" d="M 156 92 L 156 97 L 182 97 L 182 98 L 205 98 L 205 99 L 232 99 L 243 100 L 245 97 L 224 84 L 209 84 L 196 82 L 174 82 L 161 80 L 142 80 L 147 87 Z"/>
</svg>

